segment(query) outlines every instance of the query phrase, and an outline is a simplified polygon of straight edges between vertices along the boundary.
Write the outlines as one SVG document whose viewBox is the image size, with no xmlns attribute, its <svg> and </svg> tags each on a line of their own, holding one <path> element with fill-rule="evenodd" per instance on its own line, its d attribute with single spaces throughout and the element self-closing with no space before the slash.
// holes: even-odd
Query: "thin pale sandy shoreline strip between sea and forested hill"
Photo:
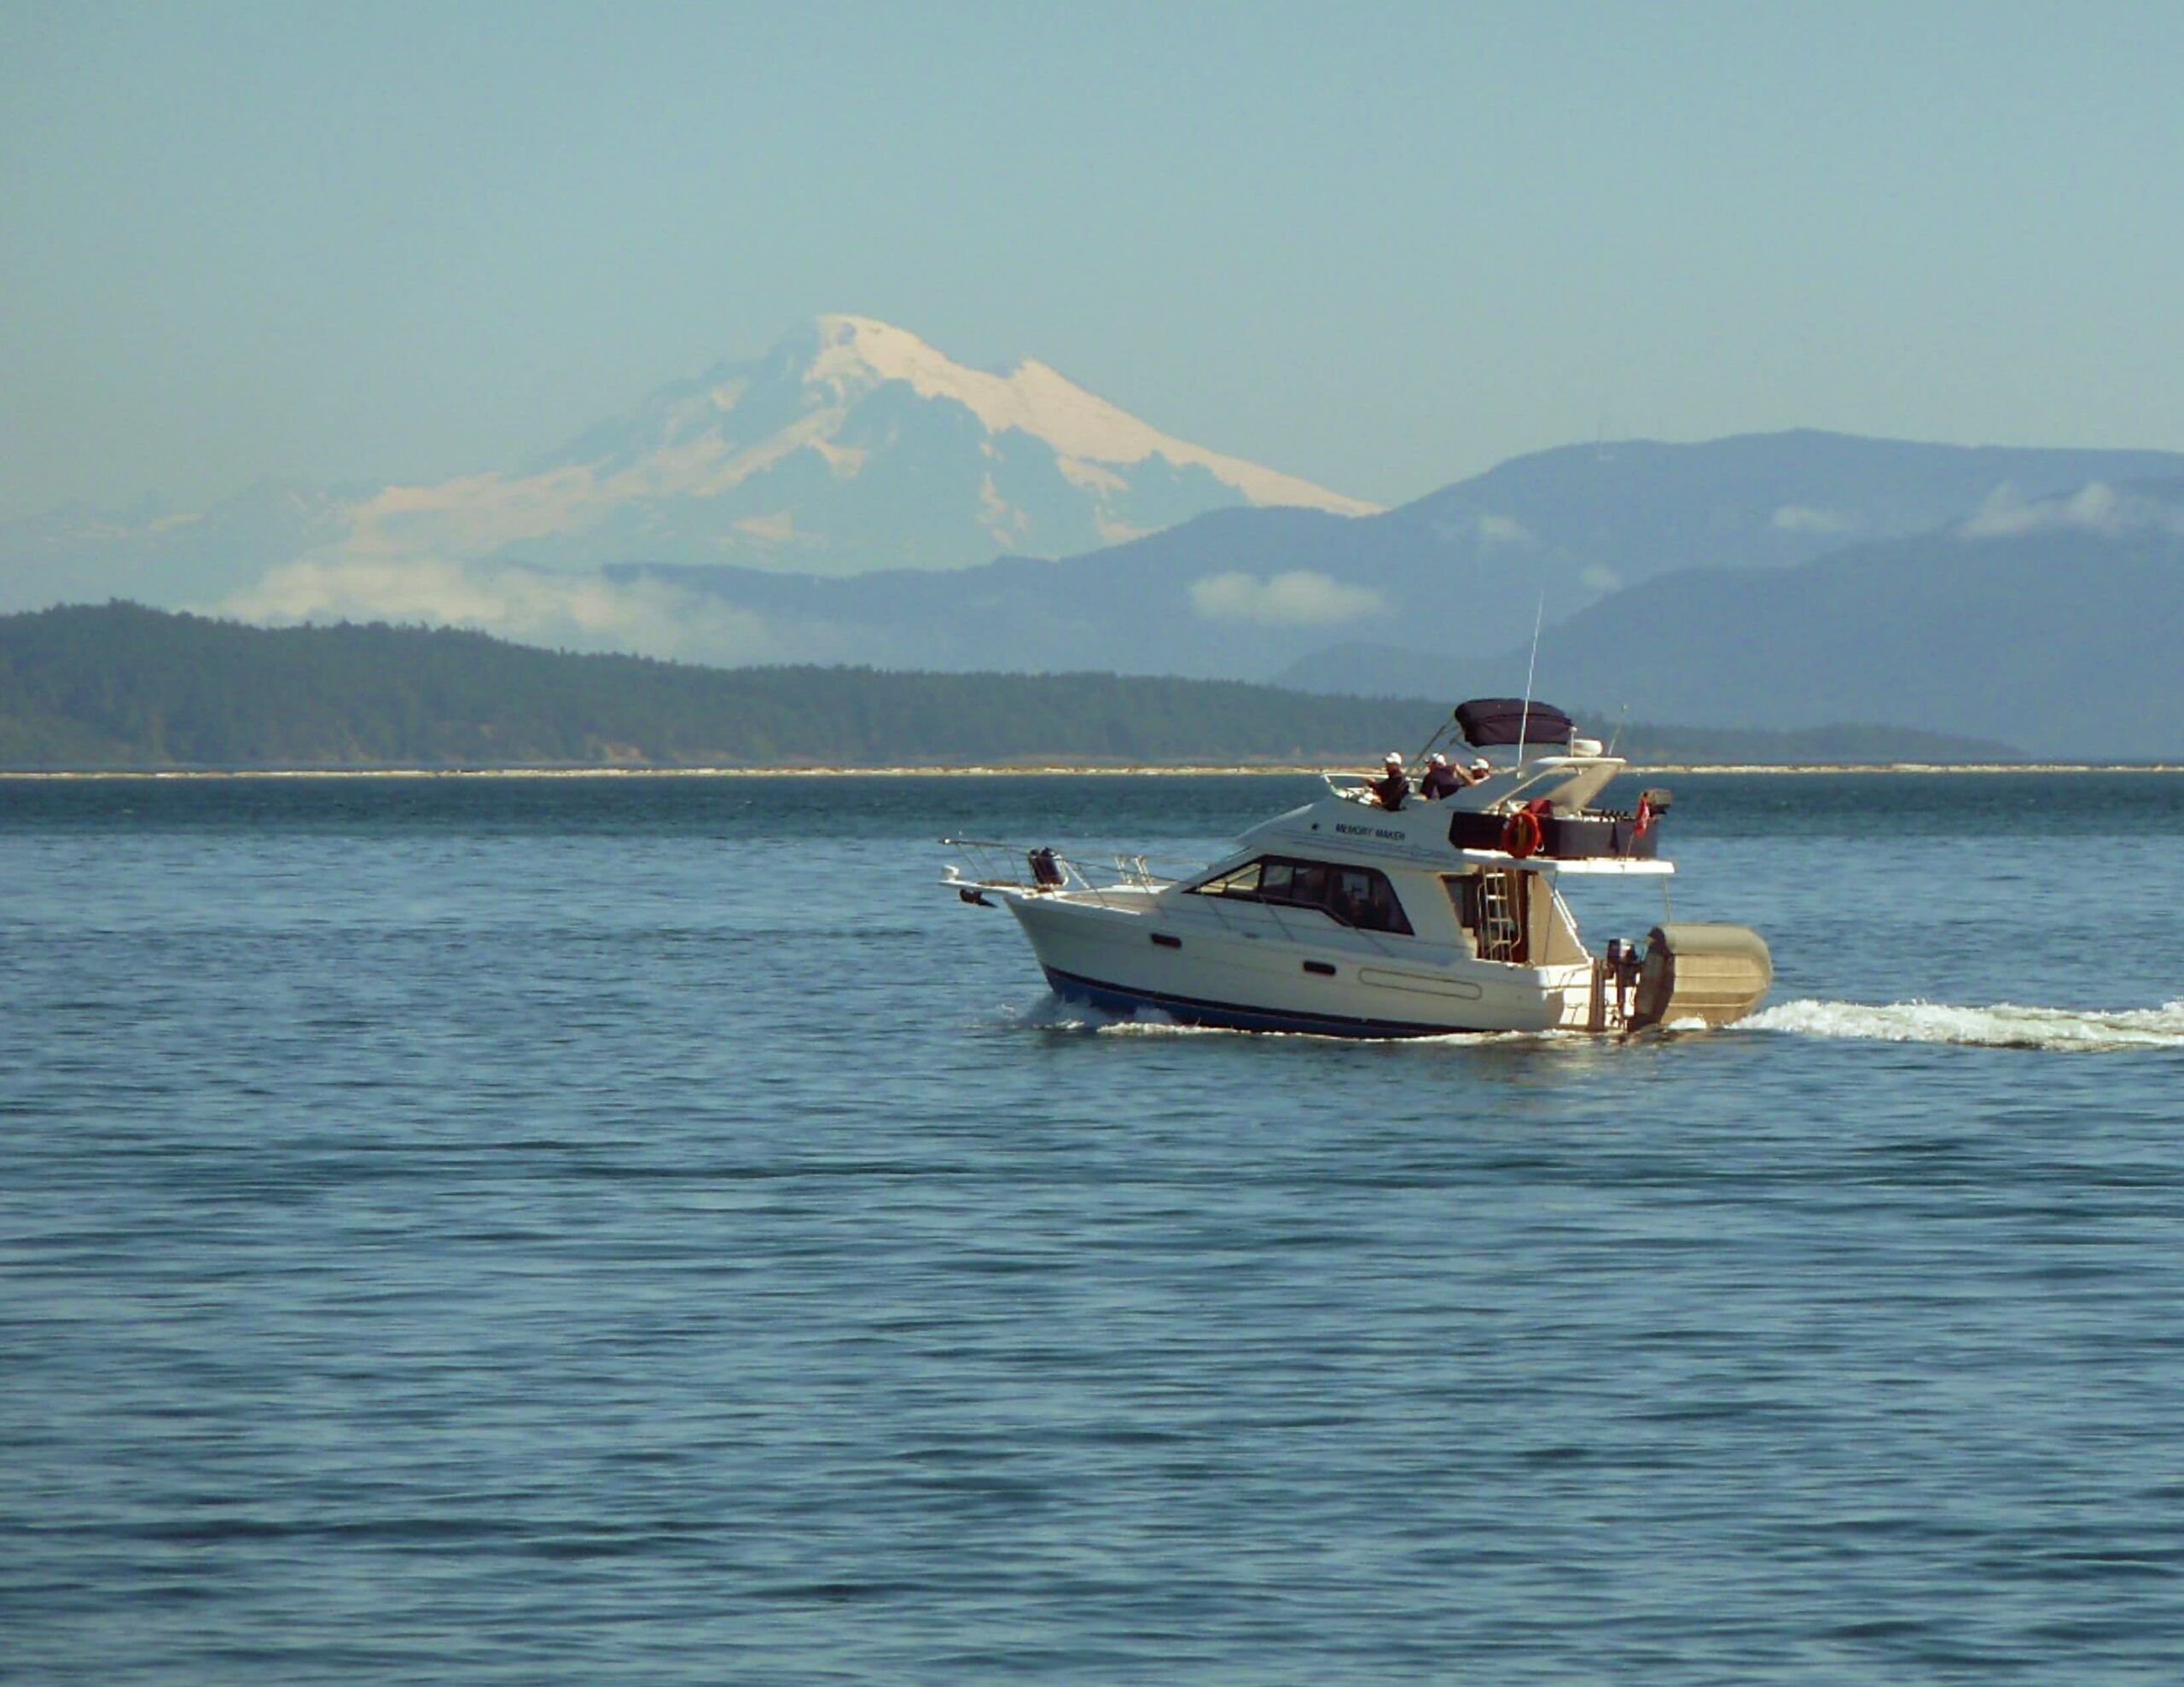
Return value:
<svg viewBox="0 0 2184 1687">
<path fill-rule="evenodd" d="M 85 779 L 1254 779 L 1317 775 L 1319 766 L 926 766 L 926 768 L 149 768 L 7 770 L 0 781 Z M 1372 768 L 1356 768 L 1369 775 Z M 2175 762 L 1634 762 L 1625 775 L 1900 775 L 1900 773 L 2184 773 Z"/>
</svg>

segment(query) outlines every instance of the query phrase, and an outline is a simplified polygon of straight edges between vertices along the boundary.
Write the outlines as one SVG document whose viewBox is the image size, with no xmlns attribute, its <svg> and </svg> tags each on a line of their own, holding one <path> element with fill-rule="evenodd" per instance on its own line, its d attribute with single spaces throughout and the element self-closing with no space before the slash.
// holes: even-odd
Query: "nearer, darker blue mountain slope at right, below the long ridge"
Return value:
<svg viewBox="0 0 2184 1687">
<path fill-rule="evenodd" d="M 1485 672 L 1522 679 L 1524 653 Z M 2184 480 L 1987 509 L 1789 570 L 1664 574 L 1557 626 L 1538 672 L 1651 718 L 1918 720 L 2035 755 L 2184 757 Z"/>
</svg>

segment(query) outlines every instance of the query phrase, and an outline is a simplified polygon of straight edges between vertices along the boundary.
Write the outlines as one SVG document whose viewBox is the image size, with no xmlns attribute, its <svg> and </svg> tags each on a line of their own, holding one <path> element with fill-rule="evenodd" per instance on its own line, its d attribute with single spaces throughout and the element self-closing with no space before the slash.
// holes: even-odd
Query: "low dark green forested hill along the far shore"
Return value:
<svg viewBox="0 0 2184 1687">
<path fill-rule="evenodd" d="M 1450 698 L 1452 701 L 1452 698 Z M 260 629 L 127 602 L 0 615 L 0 768 L 1330 764 L 1441 698 L 1116 674 L 684 668 L 408 626 Z M 2005 759 L 1961 738 L 1634 727 L 1655 762 Z"/>
</svg>

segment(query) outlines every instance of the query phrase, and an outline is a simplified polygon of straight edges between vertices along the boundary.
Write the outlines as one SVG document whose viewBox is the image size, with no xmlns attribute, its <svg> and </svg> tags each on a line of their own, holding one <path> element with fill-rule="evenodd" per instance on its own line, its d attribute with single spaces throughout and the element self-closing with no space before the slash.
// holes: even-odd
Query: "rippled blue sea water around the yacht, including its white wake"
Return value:
<svg viewBox="0 0 2184 1687">
<path fill-rule="evenodd" d="M 0 1678 L 2184 1678 L 2184 779 L 1673 783 L 1621 1045 L 935 884 L 1297 779 L 0 781 Z"/>
</svg>

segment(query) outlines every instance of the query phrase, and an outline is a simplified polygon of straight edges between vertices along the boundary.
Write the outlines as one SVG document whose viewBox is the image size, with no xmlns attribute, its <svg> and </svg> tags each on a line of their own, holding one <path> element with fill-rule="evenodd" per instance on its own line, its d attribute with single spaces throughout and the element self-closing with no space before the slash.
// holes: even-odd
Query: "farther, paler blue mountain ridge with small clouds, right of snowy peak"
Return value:
<svg viewBox="0 0 2184 1687">
<path fill-rule="evenodd" d="M 2184 476 L 2184 456 L 1817 432 L 1625 443 L 1542 452 L 1382 515 L 1212 511 L 1059 563 L 1000 559 L 948 578 L 852 585 L 646 565 L 614 578 L 751 613 L 786 648 L 823 635 L 830 650 L 900 666 L 1099 666 L 1452 696 L 1479 690 L 1468 674 L 1529 639 L 1542 611 L 1553 629 L 1688 567 L 1769 574 L 1859 543 L 2005 522 L 2149 467 Z M 1618 570 L 1618 583 L 1603 578 Z"/>
</svg>

